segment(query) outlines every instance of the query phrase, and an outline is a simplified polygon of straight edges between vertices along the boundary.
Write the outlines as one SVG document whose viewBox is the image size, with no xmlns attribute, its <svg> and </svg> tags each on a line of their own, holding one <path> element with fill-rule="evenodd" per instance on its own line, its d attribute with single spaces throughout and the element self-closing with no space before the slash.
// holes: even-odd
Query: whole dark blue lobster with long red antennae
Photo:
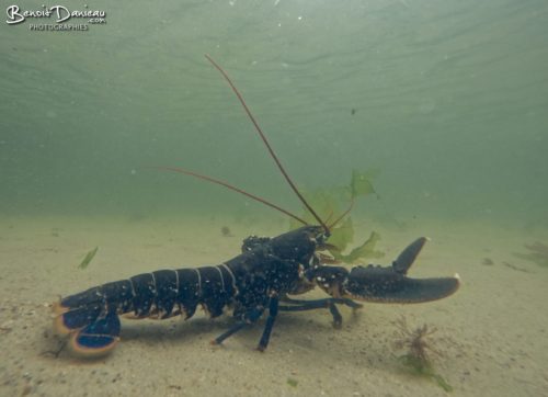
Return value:
<svg viewBox="0 0 548 397">
<path fill-rule="evenodd" d="M 212 318 L 222 315 L 226 308 L 232 310 L 236 322 L 214 339 L 214 344 L 222 343 L 233 333 L 258 322 L 267 313 L 258 344 L 258 349 L 264 351 L 278 311 L 327 308 L 332 315 L 333 325 L 339 327 L 342 316 L 338 305 L 356 309 L 362 305 L 354 300 L 430 302 L 449 296 L 458 290 L 458 274 L 434 279 L 407 276 L 426 242 L 424 237 L 403 249 L 389 266 L 357 265 L 349 271 L 343 266 L 327 264 L 334 262 L 324 253 L 332 247 L 328 242 L 331 229 L 350 212 L 352 204 L 328 226 L 299 193 L 229 76 L 208 55 L 206 58 L 224 76 L 279 171 L 319 225 L 308 225 L 288 211 L 225 181 L 186 169 L 158 167 L 237 191 L 281 211 L 305 226 L 272 238 L 250 236 L 243 240 L 240 254 L 218 265 L 158 270 L 60 298 L 53 305 L 54 324 L 58 333 L 69 337 L 68 344 L 73 352 L 84 356 L 111 352 L 119 341 L 121 315 L 137 319 L 165 319 L 183 315 L 189 319 L 198 306 Z M 292 297 L 317 286 L 329 297 L 312 300 Z"/>
</svg>

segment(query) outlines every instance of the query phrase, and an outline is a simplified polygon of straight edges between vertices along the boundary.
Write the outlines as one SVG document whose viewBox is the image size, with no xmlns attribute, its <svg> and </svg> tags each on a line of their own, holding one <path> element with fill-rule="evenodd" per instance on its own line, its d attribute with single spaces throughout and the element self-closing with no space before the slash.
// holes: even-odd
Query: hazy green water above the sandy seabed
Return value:
<svg viewBox="0 0 548 397">
<path fill-rule="evenodd" d="M 2 21 L 1 216 L 272 214 L 149 166 L 185 167 L 298 212 L 207 53 L 301 188 L 375 168 L 381 198 L 357 208 L 372 217 L 548 220 L 546 1 L 90 9 L 107 23 L 33 32 L 52 21 Z"/>
</svg>

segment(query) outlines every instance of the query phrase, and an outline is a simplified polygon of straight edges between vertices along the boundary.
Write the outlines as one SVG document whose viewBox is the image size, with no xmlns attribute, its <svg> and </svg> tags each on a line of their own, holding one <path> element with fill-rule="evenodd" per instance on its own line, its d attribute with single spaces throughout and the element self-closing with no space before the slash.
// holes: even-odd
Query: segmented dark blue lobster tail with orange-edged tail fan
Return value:
<svg viewBox="0 0 548 397">
<path fill-rule="evenodd" d="M 226 265 L 159 270 L 69 295 L 54 305 L 55 328 L 85 356 L 110 352 L 119 340 L 119 315 L 164 319 L 194 315 L 202 305 L 210 317 L 222 314 L 236 293 Z"/>
</svg>

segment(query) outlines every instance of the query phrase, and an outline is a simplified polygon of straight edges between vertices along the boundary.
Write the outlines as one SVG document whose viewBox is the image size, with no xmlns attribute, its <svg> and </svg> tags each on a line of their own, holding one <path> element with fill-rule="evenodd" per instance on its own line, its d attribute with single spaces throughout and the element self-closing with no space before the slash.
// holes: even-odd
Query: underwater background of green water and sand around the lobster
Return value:
<svg viewBox="0 0 548 397">
<path fill-rule="evenodd" d="M 547 1 L 56 2 L 106 12 L 64 22 L 85 26 L 71 32 L 32 27 L 55 15 L 8 23 L 10 7 L 54 3 L 0 1 L 0 395 L 548 395 Z M 205 54 L 315 207 L 353 175 L 370 182 L 347 251 L 372 236 L 378 254 L 352 262 L 390 264 L 429 236 L 409 275 L 458 273 L 459 290 L 342 307 L 341 329 L 327 310 L 284 313 L 264 354 L 253 351 L 264 319 L 212 347 L 233 319 L 203 310 L 124 319 L 98 360 L 65 349 L 52 325 L 60 296 L 218 264 L 246 237 L 290 227 L 158 167 L 302 214 Z M 413 338 L 431 348 L 421 376 L 402 349 Z"/>
</svg>

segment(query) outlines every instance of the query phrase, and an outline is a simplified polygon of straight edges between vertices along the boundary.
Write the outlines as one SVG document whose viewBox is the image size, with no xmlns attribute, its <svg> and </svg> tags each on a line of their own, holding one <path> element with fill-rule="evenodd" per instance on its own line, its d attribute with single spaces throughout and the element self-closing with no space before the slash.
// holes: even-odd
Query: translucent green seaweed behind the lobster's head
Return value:
<svg viewBox="0 0 548 397">
<path fill-rule="evenodd" d="M 350 202 L 347 209 L 350 211 L 353 207 L 354 201 L 358 197 L 376 195 L 379 198 L 372 182 L 377 174 L 377 170 L 353 170 L 349 185 L 318 189 L 312 192 L 304 192 L 304 195 L 318 214 L 322 218 L 328 219 L 327 223 L 330 220 L 333 222 L 332 218 L 335 217 L 335 214 L 338 214 L 336 216 L 344 214 L 341 211 L 343 203 Z M 304 209 L 301 217 L 309 224 L 315 223 L 313 217 L 306 209 Z M 300 225 L 297 222 L 292 222 L 290 224 L 292 228 L 297 228 L 298 226 Z M 345 263 L 357 263 L 363 259 L 383 258 L 385 256 L 384 252 L 375 249 L 377 242 L 380 240 L 380 235 L 377 231 L 372 231 L 369 237 L 352 249 L 350 253 L 343 253 L 353 240 L 354 226 L 352 217 L 346 216 L 342 223 L 331 228 L 331 237 L 327 250 L 336 261 Z"/>
</svg>

